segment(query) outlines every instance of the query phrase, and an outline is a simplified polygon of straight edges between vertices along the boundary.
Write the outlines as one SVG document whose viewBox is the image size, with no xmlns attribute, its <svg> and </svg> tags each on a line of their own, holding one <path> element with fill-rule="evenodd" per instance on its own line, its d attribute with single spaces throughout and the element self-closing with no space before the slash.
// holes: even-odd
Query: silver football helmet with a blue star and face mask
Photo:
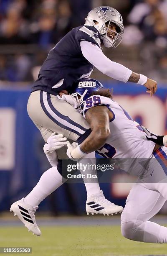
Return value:
<svg viewBox="0 0 167 256">
<path fill-rule="evenodd" d="M 94 26 L 99 31 L 107 48 L 116 48 L 121 43 L 124 24 L 121 14 L 116 9 L 109 6 L 96 7 L 88 13 L 85 20 L 85 25 Z M 116 25 L 116 32 L 109 28 L 111 23 Z"/>
</svg>

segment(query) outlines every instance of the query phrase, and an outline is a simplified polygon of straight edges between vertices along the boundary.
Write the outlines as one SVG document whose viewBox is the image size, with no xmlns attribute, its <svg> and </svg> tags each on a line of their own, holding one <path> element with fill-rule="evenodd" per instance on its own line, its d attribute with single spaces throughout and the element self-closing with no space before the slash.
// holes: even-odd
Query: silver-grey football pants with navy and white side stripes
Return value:
<svg viewBox="0 0 167 256">
<path fill-rule="evenodd" d="M 27 110 L 45 141 L 53 132 L 76 141 L 90 128 L 85 118 L 73 106 L 47 92 L 32 92 Z M 57 153 L 59 159 L 67 158 L 66 148 L 63 147 Z"/>
</svg>

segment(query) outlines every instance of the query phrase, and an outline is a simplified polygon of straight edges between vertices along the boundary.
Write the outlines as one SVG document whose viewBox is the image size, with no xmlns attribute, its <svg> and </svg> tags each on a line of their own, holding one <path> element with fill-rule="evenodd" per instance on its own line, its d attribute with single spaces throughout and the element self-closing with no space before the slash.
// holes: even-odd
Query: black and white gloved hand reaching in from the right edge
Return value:
<svg viewBox="0 0 167 256">
<path fill-rule="evenodd" d="M 142 125 L 141 125 L 142 126 Z M 160 146 L 167 146 L 167 135 L 165 136 L 159 136 L 155 133 L 152 133 L 149 131 L 147 128 L 142 126 L 143 131 L 147 134 L 142 136 L 141 138 L 146 140 L 146 141 L 153 141 L 154 143 L 160 145 Z"/>
</svg>

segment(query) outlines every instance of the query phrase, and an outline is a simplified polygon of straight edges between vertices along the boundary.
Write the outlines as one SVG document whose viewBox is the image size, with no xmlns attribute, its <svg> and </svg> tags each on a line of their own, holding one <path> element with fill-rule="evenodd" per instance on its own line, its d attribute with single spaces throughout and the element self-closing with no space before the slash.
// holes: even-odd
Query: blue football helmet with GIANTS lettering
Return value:
<svg viewBox="0 0 167 256">
<path fill-rule="evenodd" d="M 95 79 L 79 79 L 75 84 L 73 84 L 73 93 L 71 97 L 75 97 L 78 103 L 78 111 L 83 112 L 83 106 L 85 101 L 91 96 L 92 92 L 96 92 L 103 89 L 104 86 Z"/>
</svg>

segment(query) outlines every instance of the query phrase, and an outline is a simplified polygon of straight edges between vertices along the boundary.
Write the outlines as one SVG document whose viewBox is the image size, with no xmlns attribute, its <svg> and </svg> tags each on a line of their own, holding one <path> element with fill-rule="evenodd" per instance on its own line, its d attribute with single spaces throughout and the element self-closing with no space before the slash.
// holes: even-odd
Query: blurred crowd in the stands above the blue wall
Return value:
<svg viewBox="0 0 167 256">
<path fill-rule="evenodd" d="M 91 8 L 111 4 L 124 19 L 122 45 L 138 47 L 150 75 L 167 80 L 167 0 L 0 0 L 0 81 L 36 79 L 48 50 Z"/>
</svg>

